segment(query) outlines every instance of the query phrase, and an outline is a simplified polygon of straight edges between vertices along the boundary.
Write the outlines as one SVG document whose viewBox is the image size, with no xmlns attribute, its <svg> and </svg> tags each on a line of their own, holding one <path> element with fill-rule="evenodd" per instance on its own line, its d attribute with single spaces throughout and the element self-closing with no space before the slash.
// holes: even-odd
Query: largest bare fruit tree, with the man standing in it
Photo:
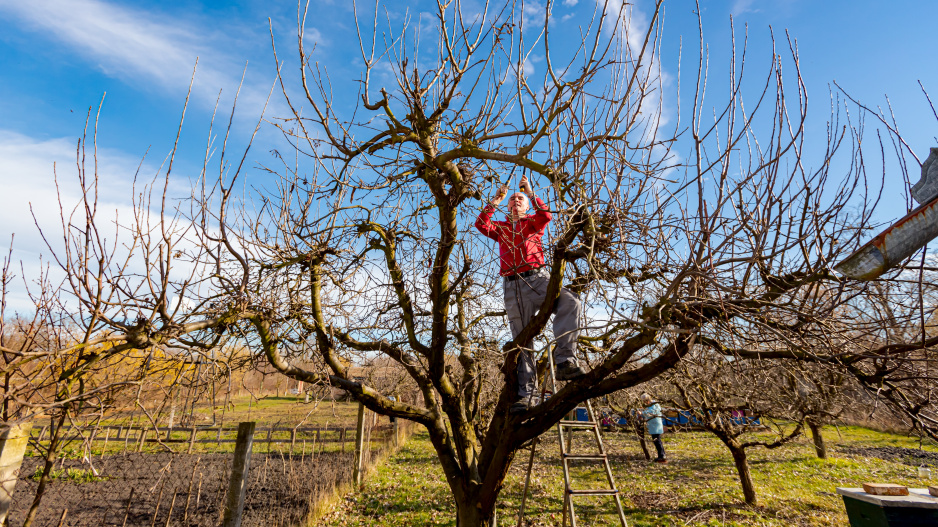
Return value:
<svg viewBox="0 0 938 527">
<path fill-rule="evenodd" d="M 671 94 L 661 1 L 642 25 L 631 5 L 599 3 L 578 45 L 561 49 L 551 5 L 441 1 L 429 27 L 391 16 L 379 26 L 376 8 L 355 20 L 362 71 L 349 94 L 307 48 L 301 4 L 298 58 L 279 70 L 289 113 L 267 118 L 288 148 L 247 185 L 247 152 L 230 157 L 227 136 L 210 134 L 217 163 L 207 156 L 193 199 L 175 214 L 136 209 L 123 242 L 134 265 L 107 260 L 89 282 L 98 260 L 78 255 L 67 270 L 74 295 L 111 295 L 87 304 L 99 321 L 93 342 L 109 348 L 79 367 L 235 339 L 284 375 L 425 427 L 464 526 L 491 523 L 522 445 L 581 402 L 656 379 L 690 353 L 868 371 L 875 357 L 845 355 L 824 331 L 862 294 L 831 266 L 865 235 L 877 195 L 864 149 L 883 145 L 861 143 L 835 101 L 808 158 L 807 91 L 790 42 L 762 71 L 745 68 L 752 59 L 734 45 L 729 91 L 714 97 L 700 35 L 696 71 L 680 84 L 691 95 Z M 672 95 L 685 104 L 666 127 Z M 553 215 L 550 282 L 512 338 L 497 249 L 473 224 L 521 176 Z M 160 219 L 148 224 L 151 210 Z M 590 371 L 510 414 L 521 350 L 542 356 L 559 337 L 545 328 L 561 286 L 583 302 Z"/>
</svg>

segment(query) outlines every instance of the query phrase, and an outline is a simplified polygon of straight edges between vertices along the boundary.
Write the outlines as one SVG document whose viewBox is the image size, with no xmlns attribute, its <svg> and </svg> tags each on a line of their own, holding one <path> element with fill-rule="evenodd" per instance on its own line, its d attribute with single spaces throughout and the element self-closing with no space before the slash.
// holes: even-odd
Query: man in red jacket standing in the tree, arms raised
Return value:
<svg viewBox="0 0 938 527">
<path fill-rule="evenodd" d="M 498 189 L 476 219 L 476 228 L 498 242 L 498 253 L 505 293 L 505 311 L 511 325 L 512 337 L 524 329 L 547 296 L 550 273 L 544 266 L 544 246 L 541 239 L 550 222 L 550 212 L 540 198 L 534 195 L 526 176 L 521 177 L 521 192 L 508 199 L 508 217 L 505 221 L 492 221 L 498 204 L 508 194 L 508 186 Z M 529 203 L 534 203 L 534 214 L 527 214 Z M 554 310 L 554 362 L 557 379 L 568 381 L 586 373 L 577 362 L 576 339 L 579 334 L 580 299 L 567 289 L 561 289 Z M 523 412 L 535 404 L 537 375 L 530 350 L 524 350 L 518 360 L 518 397 L 510 412 Z"/>
</svg>

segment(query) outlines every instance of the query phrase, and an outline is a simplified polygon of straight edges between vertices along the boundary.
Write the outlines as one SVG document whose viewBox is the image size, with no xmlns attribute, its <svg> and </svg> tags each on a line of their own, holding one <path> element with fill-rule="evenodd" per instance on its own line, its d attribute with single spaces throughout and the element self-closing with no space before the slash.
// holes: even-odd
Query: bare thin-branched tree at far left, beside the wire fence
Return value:
<svg viewBox="0 0 938 527">
<path fill-rule="evenodd" d="M 75 152 L 76 177 L 60 182 L 56 174 L 60 224 L 39 230 L 50 255 L 42 275 L 18 274 L 12 249 L 3 262 L 0 419 L 48 430 L 46 441 L 35 442 L 44 465 L 27 526 L 67 444 L 87 441 L 89 448 L 114 412 L 139 410 L 149 426 L 163 424 L 156 419 L 175 411 L 182 386 L 194 404 L 198 393 L 238 367 L 223 352 L 228 335 L 218 328 L 227 319 L 188 304 L 203 298 L 208 251 L 191 237 L 197 226 L 168 203 L 172 162 L 162 178 L 136 188 L 129 205 L 109 209 L 101 197 L 92 112 Z M 74 194 L 73 184 L 77 203 L 65 198 Z M 11 315 L 14 289 L 29 307 Z M 74 428 L 63 432 L 67 426 Z"/>
</svg>

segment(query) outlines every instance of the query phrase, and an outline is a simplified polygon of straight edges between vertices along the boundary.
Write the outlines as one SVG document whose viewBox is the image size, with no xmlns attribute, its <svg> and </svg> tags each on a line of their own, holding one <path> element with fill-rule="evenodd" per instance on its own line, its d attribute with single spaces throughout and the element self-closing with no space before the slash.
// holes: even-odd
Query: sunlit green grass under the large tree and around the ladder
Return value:
<svg viewBox="0 0 938 527">
<path fill-rule="evenodd" d="M 750 468 L 760 501 L 743 503 L 732 458 L 725 447 L 705 432 L 667 434 L 671 463 L 648 463 L 634 436 L 606 434 L 617 485 L 631 527 L 652 526 L 827 526 L 846 525 L 843 501 L 836 487 L 864 482 L 899 483 L 912 487 L 936 485 L 923 481 L 916 467 L 877 458 L 848 455 L 840 446 L 898 446 L 918 448 L 918 440 L 858 427 L 825 429 L 829 458 L 817 459 L 808 439 L 776 450 L 749 451 Z M 579 432 L 576 444 L 590 436 Z M 651 448 L 651 445 L 649 445 Z M 934 445 L 923 449 L 938 451 Z M 498 524 L 515 525 L 529 453 L 515 459 L 498 502 Z M 602 471 L 574 469 L 575 488 L 595 488 L 605 481 Z M 425 432 L 415 435 L 384 465 L 378 467 L 361 492 L 347 495 L 322 524 L 340 525 L 455 525 L 454 505 Z M 556 433 L 542 436 L 535 456 L 525 525 L 561 523 L 562 469 Z M 575 501 L 581 525 L 618 525 L 611 498 Z"/>
</svg>

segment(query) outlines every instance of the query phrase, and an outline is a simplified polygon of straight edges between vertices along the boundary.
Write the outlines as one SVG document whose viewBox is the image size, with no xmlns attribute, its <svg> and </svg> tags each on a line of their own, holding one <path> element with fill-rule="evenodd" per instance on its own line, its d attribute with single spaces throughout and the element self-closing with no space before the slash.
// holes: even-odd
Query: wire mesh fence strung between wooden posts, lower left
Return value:
<svg viewBox="0 0 938 527">
<path fill-rule="evenodd" d="M 409 433 L 412 423 L 363 427 L 367 468 Z M 62 427 L 62 447 L 40 492 L 52 438 L 33 429 L 10 512 L 32 526 L 209 526 L 224 514 L 236 427 L 147 428 L 112 422 Z M 241 525 L 303 524 L 316 504 L 352 480 L 356 428 L 258 426 L 253 436 Z"/>
</svg>

